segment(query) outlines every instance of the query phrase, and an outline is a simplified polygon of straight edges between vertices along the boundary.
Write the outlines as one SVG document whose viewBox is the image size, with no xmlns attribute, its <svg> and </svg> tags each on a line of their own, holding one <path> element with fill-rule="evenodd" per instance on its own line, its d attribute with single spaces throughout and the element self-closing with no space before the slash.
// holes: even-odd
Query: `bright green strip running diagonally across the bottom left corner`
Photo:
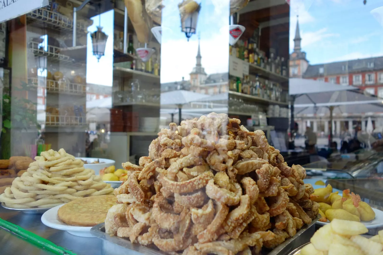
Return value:
<svg viewBox="0 0 383 255">
<path fill-rule="evenodd" d="M 66 250 L 63 247 L 57 246 L 56 244 L 52 243 L 51 241 L 46 240 L 43 237 L 40 237 L 36 234 L 33 234 L 32 232 L 29 232 L 20 226 L 17 226 L 17 225 L 12 224 L 8 221 L 5 221 L 2 218 L 0 218 L 0 227 L 7 229 L 8 231 L 10 231 L 10 232 L 16 234 L 17 236 L 25 239 L 26 241 L 30 242 L 31 244 L 42 247 L 42 248 L 46 249 L 47 251 L 52 252 L 54 254 L 76 255 L 76 253 L 73 253 L 70 250 Z"/>
</svg>

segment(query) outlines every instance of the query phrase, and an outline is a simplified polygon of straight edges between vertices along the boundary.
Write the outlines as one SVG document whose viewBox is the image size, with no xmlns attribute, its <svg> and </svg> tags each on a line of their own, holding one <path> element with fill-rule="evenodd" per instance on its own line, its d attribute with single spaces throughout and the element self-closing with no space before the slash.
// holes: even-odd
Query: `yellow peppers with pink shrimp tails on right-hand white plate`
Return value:
<svg viewBox="0 0 383 255">
<path fill-rule="evenodd" d="M 310 199 L 319 203 L 319 221 L 327 222 L 333 219 L 348 221 L 372 221 L 375 212 L 368 203 L 360 201 L 360 196 L 349 189 L 343 190 L 342 196 L 332 192 L 329 184 L 326 188 L 317 188 Z"/>
</svg>

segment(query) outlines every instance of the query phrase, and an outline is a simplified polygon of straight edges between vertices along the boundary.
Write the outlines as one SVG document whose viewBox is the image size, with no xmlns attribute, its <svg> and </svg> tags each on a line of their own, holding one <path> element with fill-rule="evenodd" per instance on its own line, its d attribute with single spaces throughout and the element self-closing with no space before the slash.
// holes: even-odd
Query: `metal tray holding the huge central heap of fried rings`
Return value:
<svg viewBox="0 0 383 255">
<path fill-rule="evenodd" d="M 307 244 L 310 241 L 310 238 L 313 236 L 315 232 L 315 223 L 318 221 L 319 218 L 314 219 L 311 221 L 310 224 L 304 225 L 298 232 L 296 232 L 296 235 L 293 237 L 290 237 L 282 244 L 278 245 L 273 250 L 262 250 L 262 254 L 264 255 L 287 255 L 292 250 L 294 250 L 296 247 L 300 247 L 303 244 Z M 112 243 L 115 245 L 104 244 L 105 252 L 109 251 L 110 254 L 112 254 L 111 250 L 113 249 L 114 252 L 117 252 L 116 250 L 120 249 L 120 252 L 126 253 L 126 249 L 132 250 L 132 252 L 136 252 L 136 254 L 145 254 L 145 255 L 166 255 L 165 252 L 161 252 L 159 250 L 154 250 L 152 248 L 139 245 L 139 244 L 132 244 L 129 240 L 119 238 L 116 236 L 109 236 L 105 233 L 105 224 L 101 223 L 98 224 L 92 229 L 90 229 L 90 233 L 100 238 L 108 243 Z M 108 246 L 108 247 L 106 247 Z M 126 253 L 128 254 L 128 253 Z M 129 255 L 132 253 L 129 253 Z"/>
</svg>

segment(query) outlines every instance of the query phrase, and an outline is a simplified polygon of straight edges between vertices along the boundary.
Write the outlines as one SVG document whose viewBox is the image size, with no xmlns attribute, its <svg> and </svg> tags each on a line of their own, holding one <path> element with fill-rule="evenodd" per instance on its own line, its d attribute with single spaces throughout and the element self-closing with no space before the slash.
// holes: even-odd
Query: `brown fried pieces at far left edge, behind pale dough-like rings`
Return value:
<svg viewBox="0 0 383 255">
<path fill-rule="evenodd" d="M 12 156 L 9 159 L 0 159 L 0 194 L 11 187 L 13 180 L 21 176 L 33 159 L 24 156 Z"/>
</svg>

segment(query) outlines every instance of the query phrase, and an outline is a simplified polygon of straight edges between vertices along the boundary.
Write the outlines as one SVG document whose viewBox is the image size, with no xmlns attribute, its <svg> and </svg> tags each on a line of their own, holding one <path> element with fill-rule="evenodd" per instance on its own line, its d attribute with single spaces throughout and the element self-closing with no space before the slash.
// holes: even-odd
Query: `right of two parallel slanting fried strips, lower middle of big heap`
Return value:
<svg viewBox="0 0 383 255">
<path fill-rule="evenodd" d="M 239 206 L 232 210 L 223 223 L 223 229 L 226 233 L 233 231 L 235 227 L 241 224 L 250 213 L 250 197 L 243 195 L 240 197 Z"/>
</svg>

